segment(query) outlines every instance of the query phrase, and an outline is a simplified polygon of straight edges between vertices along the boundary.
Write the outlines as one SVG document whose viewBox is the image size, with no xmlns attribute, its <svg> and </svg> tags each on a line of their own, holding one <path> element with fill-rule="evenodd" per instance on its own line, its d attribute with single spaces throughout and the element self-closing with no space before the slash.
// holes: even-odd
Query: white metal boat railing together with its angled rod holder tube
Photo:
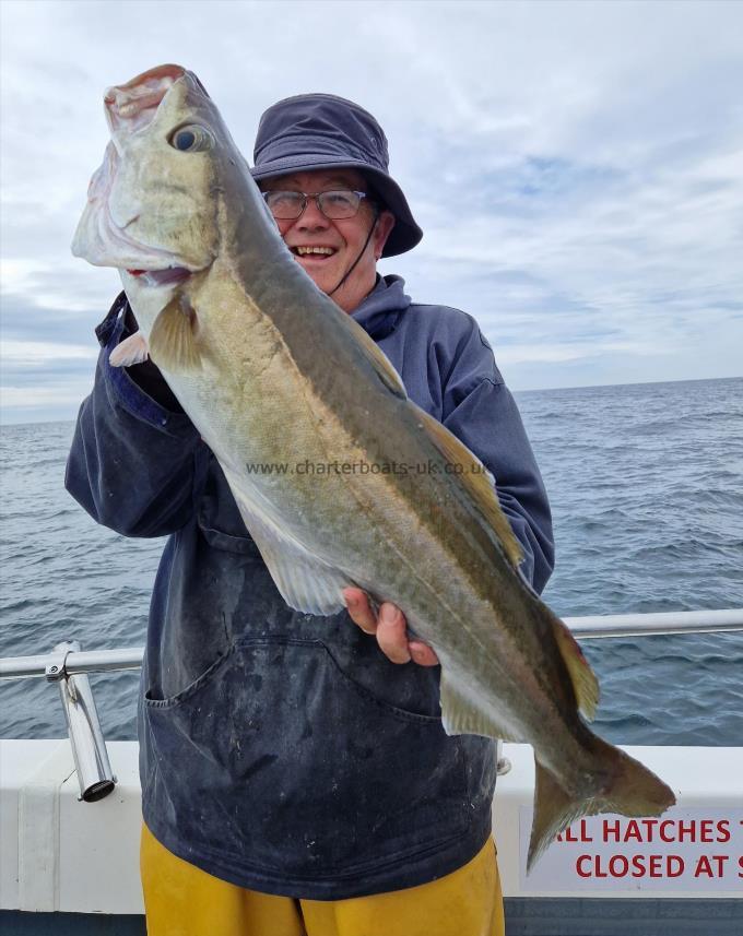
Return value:
<svg viewBox="0 0 743 936">
<path fill-rule="evenodd" d="M 564 621 L 578 640 L 720 633 L 743 630 L 743 608 L 592 615 L 566 617 Z M 48 653 L 0 659 L 0 679 L 44 677 L 58 685 L 80 783 L 80 798 L 85 802 L 103 798 L 116 784 L 87 674 L 139 670 L 143 655 L 142 647 L 83 650 L 78 641 L 67 641 L 58 643 Z M 499 772 L 506 772 L 508 765 L 499 761 L 498 768 Z"/>
</svg>

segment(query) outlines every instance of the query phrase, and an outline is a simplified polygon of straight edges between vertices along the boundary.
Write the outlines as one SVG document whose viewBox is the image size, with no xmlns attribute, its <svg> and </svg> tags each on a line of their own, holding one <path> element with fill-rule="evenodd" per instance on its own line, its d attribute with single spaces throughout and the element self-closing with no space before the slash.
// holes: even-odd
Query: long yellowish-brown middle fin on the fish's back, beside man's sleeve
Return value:
<svg viewBox="0 0 743 936">
<path fill-rule="evenodd" d="M 457 477 L 470 496 L 475 508 L 495 531 L 506 556 L 516 568 L 523 558 L 521 546 L 510 528 L 506 514 L 500 509 L 495 481 L 480 459 L 465 445 L 424 410 L 418 408 L 417 416 L 428 437 L 444 455 L 448 464 L 462 465 Z M 477 466 L 477 467 L 475 467 Z"/>
</svg>

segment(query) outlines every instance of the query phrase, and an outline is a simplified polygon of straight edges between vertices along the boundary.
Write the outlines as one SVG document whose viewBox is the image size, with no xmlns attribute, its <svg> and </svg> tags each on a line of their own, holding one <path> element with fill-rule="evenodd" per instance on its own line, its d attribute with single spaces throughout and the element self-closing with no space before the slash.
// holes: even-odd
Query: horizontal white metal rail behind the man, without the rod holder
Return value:
<svg viewBox="0 0 743 936">
<path fill-rule="evenodd" d="M 649 637 L 661 633 L 719 633 L 743 630 L 743 608 L 726 611 L 683 611 L 659 614 L 612 614 L 566 617 L 565 624 L 579 640 L 603 637 Z M 35 656 L 0 659 L 0 679 L 45 676 L 57 679 L 61 670 L 68 676 L 139 670 L 144 648 L 82 650 L 40 653 Z M 54 668 L 57 666 L 58 668 Z"/>
</svg>

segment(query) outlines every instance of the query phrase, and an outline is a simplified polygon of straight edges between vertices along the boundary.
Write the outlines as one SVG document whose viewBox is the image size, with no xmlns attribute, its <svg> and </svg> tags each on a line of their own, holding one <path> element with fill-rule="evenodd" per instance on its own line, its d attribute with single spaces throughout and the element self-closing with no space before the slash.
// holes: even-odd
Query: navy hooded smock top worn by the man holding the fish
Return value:
<svg viewBox="0 0 743 936">
<path fill-rule="evenodd" d="M 412 400 L 493 473 L 540 592 L 550 508 L 514 399 L 476 322 L 379 279 L 353 312 Z M 495 744 L 448 737 L 439 667 L 396 665 L 346 612 L 286 606 L 214 455 L 152 365 L 111 368 L 121 294 L 98 327 L 67 486 L 129 536 L 168 541 L 139 707 L 144 821 L 170 852 L 267 893 L 338 900 L 413 887 L 491 831 Z M 146 388 L 146 392 L 143 388 Z"/>
</svg>

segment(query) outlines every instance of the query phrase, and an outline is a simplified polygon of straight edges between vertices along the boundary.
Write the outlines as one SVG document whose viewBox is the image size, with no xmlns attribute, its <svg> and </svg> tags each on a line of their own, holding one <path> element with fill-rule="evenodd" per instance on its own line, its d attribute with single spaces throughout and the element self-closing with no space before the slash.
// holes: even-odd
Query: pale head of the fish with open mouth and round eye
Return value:
<svg viewBox="0 0 743 936">
<path fill-rule="evenodd" d="M 219 254 L 217 196 L 225 169 L 243 157 L 198 78 L 180 66 L 110 87 L 104 104 L 111 139 L 72 252 L 118 268 L 127 292 L 182 283 Z"/>
</svg>

